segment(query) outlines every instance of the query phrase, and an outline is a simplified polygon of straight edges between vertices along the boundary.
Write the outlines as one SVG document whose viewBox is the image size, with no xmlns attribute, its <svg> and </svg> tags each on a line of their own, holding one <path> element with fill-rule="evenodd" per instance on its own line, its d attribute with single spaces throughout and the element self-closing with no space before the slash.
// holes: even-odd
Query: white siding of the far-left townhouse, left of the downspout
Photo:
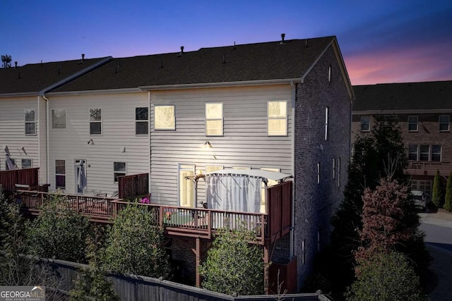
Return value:
<svg viewBox="0 0 452 301">
<path fill-rule="evenodd" d="M 25 135 L 25 109 L 35 110 L 37 135 Z M 6 146 L 19 168 L 22 159 L 32 159 L 32 167 L 40 167 L 37 115 L 36 96 L 0 98 L 0 170 L 6 169 Z M 40 181 L 45 182 L 45 179 Z"/>
</svg>

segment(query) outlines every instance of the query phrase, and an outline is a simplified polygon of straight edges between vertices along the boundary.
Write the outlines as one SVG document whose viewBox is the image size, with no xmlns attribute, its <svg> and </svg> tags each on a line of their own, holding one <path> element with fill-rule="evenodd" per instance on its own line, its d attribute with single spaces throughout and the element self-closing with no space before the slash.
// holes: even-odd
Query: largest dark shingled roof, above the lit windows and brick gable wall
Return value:
<svg viewBox="0 0 452 301">
<path fill-rule="evenodd" d="M 53 92 L 302 78 L 335 37 L 114 59 Z"/>
</svg>

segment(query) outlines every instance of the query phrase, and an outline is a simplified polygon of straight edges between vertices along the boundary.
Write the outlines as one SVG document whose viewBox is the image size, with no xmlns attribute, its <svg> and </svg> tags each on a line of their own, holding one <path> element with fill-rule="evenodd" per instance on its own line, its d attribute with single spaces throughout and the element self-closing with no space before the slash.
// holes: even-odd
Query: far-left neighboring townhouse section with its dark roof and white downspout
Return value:
<svg viewBox="0 0 452 301">
<path fill-rule="evenodd" d="M 47 183 L 47 101 L 44 93 L 59 87 L 110 58 L 35 63 L 0 68 L 0 171 L 40 168 Z M 9 158 L 9 159 L 8 159 Z"/>
</svg>

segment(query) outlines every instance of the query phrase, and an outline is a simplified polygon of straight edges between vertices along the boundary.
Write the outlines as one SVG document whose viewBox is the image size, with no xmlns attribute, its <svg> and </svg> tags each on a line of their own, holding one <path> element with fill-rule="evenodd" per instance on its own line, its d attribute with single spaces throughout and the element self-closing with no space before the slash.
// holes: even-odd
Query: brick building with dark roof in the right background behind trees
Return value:
<svg viewBox="0 0 452 301">
<path fill-rule="evenodd" d="M 398 121 L 413 190 L 432 195 L 436 170 L 452 171 L 452 81 L 355 86 L 352 140 L 379 118 Z"/>
</svg>

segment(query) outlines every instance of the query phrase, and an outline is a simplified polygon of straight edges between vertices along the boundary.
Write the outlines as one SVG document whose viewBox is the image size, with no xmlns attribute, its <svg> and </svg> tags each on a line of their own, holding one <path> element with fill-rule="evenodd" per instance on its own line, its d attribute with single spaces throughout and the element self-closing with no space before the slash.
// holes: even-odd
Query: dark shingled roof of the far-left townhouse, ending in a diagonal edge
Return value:
<svg viewBox="0 0 452 301">
<path fill-rule="evenodd" d="M 17 68 L 0 68 L 0 94 L 38 94 L 47 87 L 105 59 L 30 63 Z"/>
</svg>

